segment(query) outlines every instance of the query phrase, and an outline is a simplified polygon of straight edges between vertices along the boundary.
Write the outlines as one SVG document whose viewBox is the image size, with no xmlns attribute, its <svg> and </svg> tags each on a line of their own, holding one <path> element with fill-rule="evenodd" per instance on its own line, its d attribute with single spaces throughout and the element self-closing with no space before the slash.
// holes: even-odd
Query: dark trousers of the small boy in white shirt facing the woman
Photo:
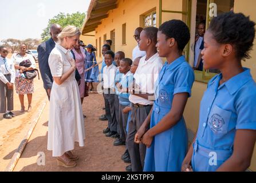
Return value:
<svg viewBox="0 0 256 183">
<path fill-rule="evenodd" d="M 117 121 L 115 113 L 115 93 L 104 92 L 106 116 L 108 118 L 108 128 L 112 132 L 117 132 Z"/>
</svg>

